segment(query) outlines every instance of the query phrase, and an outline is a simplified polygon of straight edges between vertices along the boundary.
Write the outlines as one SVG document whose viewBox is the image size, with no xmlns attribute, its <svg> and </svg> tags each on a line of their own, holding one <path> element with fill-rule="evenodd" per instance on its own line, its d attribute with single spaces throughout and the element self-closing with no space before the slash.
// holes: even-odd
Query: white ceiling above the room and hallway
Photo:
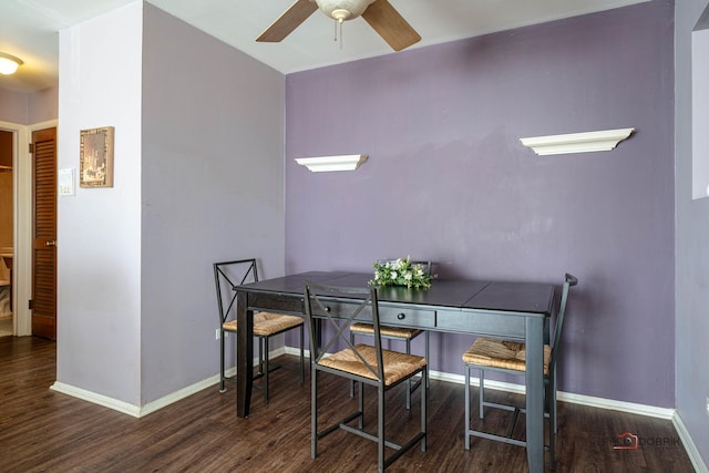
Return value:
<svg viewBox="0 0 709 473">
<path fill-rule="evenodd" d="M 0 52 L 24 64 L 0 89 L 34 92 L 58 85 L 60 30 L 136 0 L 2 0 Z M 150 0 L 284 74 L 392 53 L 361 18 L 343 24 L 316 11 L 280 43 L 255 41 L 294 0 Z M 494 31 L 608 10 L 647 0 L 390 0 L 421 34 L 422 48 Z M 341 48 L 340 48 L 341 47 Z"/>
</svg>

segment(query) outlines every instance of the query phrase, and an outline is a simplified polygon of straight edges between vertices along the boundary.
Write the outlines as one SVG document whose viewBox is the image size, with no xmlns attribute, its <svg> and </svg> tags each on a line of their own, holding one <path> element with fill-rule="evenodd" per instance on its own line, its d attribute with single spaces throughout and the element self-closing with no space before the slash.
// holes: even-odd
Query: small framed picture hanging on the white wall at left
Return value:
<svg viewBox="0 0 709 473">
<path fill-rule="evenodd" d="M 81 131 L 80 187 L 113 187 L 113 126 Z"/>
</svg>

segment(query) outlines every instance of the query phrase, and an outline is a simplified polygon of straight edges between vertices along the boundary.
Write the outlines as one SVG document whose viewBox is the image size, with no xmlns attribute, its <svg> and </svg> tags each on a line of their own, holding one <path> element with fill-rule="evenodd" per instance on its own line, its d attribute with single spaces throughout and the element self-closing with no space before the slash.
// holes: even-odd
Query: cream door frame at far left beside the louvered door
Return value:
<svg viewBox="0 0 709 473">
<path fill-rule="evenodd" d="M 30 143 L 32 132 L 58 126 L 58 120 L 20 125 L 0 121 L 0 127 L 14 133 L 14 148 L 12 156 L 13 186 L 13 251 L 12 258 L 12 291 L 14 308 L 12 326 L 16 336 L 32 335 L 32 313 L 29 300 L 32 298 L 32 155 Z M 59 158 L 59 156 L 58 156 Z"/>
</svg>

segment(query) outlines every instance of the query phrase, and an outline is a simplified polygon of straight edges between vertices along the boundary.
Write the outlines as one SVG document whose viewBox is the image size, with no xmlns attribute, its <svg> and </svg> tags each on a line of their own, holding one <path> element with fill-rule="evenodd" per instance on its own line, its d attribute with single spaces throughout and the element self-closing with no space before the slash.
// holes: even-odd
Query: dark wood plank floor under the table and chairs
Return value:
<svg viewBox="0 0 709 473">
<path fill-rule="evenodd" d="M 285 361 L 292 361 L 290 357 Z M 369 472 L 376 470 L 371 442 L 336 432 L 310 459 L 309 383 L 280 370 L 266 404 L 255 391 L 249 419 L 235 414 L 235 391 L 206 389 L 143 419 L 51 391 L 55 345 L 31 338 L 0 338 L 0 471 L 2 472 Z M 347 384 L 326 380 L 321 418 L 340 415 L 352 401 Z M 391 392 L 392 434 L 407 425 L 403 392 Z M 500 400 L 512 394 L 490 391 Z M 476 398 L 476 390 L 475 395 Z M 414 394 L 413 422 L 418 425 Z M 370 409 L 370 413 L 372 410 Z M 575 404 L 559 407 L 558 472 L 691 472 L 691 463 L 670 421 Z M 497 425 L 490 414 L 485 424 Z M 322 419 L 323 421 L 326 419 Z M 372 418 L 373 420 L 373 418 Z M 432 381 L 428 451 L 413 450 L 391 472 L 524 472 L 522 448 L 474 439 L 463 449 L 463 385 Z M 637 434 L 637 450 L 614 450 L 614 439 Z"/>
</svg>

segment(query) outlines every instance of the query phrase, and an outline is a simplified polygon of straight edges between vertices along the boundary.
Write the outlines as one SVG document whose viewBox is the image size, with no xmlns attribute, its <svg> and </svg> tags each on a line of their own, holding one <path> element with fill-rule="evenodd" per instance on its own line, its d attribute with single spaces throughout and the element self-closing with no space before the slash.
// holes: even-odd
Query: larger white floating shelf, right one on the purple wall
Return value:
<svg viewBox="0 0 709 473">
<path fill-rule="evenodd" d="M 565 135 L 520 138 L 523 145 L 538 155 L 610 151 L 630 136 L 635 128 L 604 130 L 600 132 L 568 133 Z"/>
</svg>

